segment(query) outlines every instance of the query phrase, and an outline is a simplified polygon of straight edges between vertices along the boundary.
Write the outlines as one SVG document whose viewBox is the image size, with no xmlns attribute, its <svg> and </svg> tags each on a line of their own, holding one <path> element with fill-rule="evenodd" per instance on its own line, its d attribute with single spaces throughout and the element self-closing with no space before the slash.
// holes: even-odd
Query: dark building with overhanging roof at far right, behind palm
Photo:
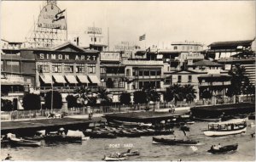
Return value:
<svg viewBox="0 0 256 162">
<path fill-rule="evenodd" d="M 249 81 L 255 85 L 255 39 L 245 41 L 212 42 L 207 58 L 224 64 L 224 70 L 231 70 L 241 64 L 246 70 Z"/>
</svg>

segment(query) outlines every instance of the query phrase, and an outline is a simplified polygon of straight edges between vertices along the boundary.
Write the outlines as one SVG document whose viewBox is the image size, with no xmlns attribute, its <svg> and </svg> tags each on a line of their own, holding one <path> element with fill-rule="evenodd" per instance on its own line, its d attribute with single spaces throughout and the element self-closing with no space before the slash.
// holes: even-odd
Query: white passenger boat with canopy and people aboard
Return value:
<svg viewBox="0 0 256 162">
<path fill-rule="evenodd" d="M 236 119 L 223 122 L 211 122 L 204 134 L 208 137 L 219 137 L 240 134 L 247 131 L 246 120 Z"/>
</svg>

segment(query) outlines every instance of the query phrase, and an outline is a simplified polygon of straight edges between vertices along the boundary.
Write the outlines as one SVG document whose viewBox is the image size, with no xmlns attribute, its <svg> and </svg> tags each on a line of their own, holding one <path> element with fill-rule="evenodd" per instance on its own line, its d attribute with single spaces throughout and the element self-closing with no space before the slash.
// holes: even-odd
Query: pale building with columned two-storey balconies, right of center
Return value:
<svg viewBox="0 0 256 162">
<path fill-rule="evenodd" d="M 132 58 L 123 60 L 125 65 L 125 91 L 136 92 L 143 87 L 152 87 L 160 93 L 161 101 L 163 95 L 163 61 L 158 59 L 158 53 L 146 51 L 137 51 L 132 53 Z"/>
</svg>

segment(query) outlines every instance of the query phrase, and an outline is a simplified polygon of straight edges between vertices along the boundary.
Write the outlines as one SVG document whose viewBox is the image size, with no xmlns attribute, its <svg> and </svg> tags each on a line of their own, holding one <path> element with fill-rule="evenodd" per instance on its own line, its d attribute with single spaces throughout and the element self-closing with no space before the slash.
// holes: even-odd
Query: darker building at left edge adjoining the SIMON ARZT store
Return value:
<svg viewBox="0 0 256 162">
<path fill-rule="evenodd" d="M 31 71 L 26 70 L 24 63 L 30 64 L 32 60 L 21 59 L 20 47 L 23 42 L 9 42 L 1 39 L 1 95 L 23 96 L 32 84 Z M 21 61 L 23 64 L 21 64 Z M 20 70 L 24 71 L 21 75 Z"/>
</svg>

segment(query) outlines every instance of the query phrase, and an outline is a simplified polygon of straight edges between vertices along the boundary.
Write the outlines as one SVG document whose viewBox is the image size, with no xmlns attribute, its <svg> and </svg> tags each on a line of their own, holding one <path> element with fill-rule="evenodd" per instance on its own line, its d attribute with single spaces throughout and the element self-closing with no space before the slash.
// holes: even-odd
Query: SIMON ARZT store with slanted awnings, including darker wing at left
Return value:
<svg viewBox="0 0 256 162">
<path fill-rule="evenodd" d="M 10 84 L 20 77 L 30 91 L 44 93 L 54 89 L 68 93 L 77 87 L 100 85 L 100 59 L 96 50 L 67 42 L 50 48 L 3 48 L 2 52 L 2 75 Z"/>
</svg>

